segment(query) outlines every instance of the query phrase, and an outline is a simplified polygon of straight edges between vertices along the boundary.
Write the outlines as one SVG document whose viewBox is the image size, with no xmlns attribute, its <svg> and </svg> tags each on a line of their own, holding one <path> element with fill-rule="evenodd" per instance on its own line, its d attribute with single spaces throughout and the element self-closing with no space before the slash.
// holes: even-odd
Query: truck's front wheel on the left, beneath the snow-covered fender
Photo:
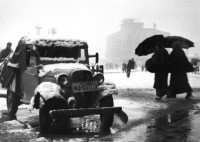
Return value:
<svg viewBox="0 0 200 142">
<path fill-rule="evenodd" d="M 39 124 L 40 124 L 40 133 L 47 134 L 50 130 L 51 121 L 49 117 L 49 107 L 46 104 L 40 107 Z"/>
</svg>

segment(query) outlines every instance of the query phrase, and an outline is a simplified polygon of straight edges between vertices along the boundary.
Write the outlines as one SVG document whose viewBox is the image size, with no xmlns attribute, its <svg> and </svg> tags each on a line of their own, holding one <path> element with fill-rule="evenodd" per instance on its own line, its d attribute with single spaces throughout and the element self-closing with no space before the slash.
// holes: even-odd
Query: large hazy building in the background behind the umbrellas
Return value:
<svg viewBox="0 0 200 142">
<path fill-rule="evenodd" d="M 135 55 L 135 48 L 147 37 L 163 34 L 169 36 L 170 33 L 153 28 L 144 28 L 144 23 L 137 22 L 135 19 L 124 19 L 120 31 L 107 37 L 106 59 L 107 62 L 119 63 L 135 58 L 136 61 L 143 62 L 146 56 Z"/>
</svg>

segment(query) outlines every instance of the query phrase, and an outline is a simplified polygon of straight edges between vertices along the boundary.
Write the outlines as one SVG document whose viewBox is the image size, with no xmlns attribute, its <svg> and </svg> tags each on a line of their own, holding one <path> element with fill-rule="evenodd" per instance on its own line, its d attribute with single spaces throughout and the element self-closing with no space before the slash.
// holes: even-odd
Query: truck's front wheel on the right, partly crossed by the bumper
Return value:
<svg viewBox="0 0 200 142">
<path fill-rule="evenodd" d="M 103 98 L 100 101 L 100 107 L 113 107 L 114 103 L 113 103 L 113 97 L 112 95 L 107 96 L 105 98 Z M 101 114 L 100 115 L 100 119 L 101 119 L 101 128 L 103 131 L 109 131 L 110 127 L 113 124 L 113 120 L 114 120 L 114 113 L 111 114 Z"/>
</svg>

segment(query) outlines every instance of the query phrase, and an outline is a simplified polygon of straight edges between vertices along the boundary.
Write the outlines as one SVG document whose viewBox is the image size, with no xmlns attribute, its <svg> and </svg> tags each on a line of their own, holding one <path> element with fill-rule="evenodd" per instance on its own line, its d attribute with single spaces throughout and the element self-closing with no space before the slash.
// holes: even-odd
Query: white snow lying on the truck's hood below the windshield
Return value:
<svg viewBox="0 0 200 142">
<path fill-rule="evenodd" d="M 70 70 L 70 69 L 84 69 L 88 68 L 80 63 L 59 63 L 59 64 L 48 64 L 44 65 L 42 69 L 39 70 L 39 77 L 45 76 L 48 72 L 54 72 L 56 69 Z"/>
</svg>

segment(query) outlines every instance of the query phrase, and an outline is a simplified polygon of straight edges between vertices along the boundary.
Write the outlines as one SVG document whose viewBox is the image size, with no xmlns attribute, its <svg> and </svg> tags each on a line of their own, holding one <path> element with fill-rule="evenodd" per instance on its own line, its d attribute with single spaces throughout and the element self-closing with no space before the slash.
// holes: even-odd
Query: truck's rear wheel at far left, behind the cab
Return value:
<svg viewBox="0 0 200 142">
<path fill-rule="evenodd" d="M 19 104 L 19 98 L 16 93 L 11 90 L 7 90 L 7 108 L 10 116 L 13 116 L 17 113 Z"/>
</svg>

